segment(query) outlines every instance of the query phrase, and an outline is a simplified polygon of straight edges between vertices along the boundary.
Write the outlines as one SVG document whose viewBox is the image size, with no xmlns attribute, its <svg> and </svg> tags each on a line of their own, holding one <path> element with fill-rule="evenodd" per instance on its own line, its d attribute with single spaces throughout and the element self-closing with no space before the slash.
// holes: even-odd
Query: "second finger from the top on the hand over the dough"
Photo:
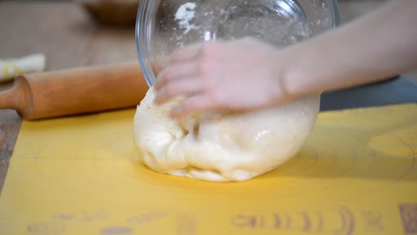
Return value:
<svg viewBox="0 0 417 235">
<path fill-rule="evenodd" d="M 155 89 L 158 91 L 167 82 L 198 76 L 198 65 L 195 62 L 168 65 L 156 80 Z"/>
</svg>

